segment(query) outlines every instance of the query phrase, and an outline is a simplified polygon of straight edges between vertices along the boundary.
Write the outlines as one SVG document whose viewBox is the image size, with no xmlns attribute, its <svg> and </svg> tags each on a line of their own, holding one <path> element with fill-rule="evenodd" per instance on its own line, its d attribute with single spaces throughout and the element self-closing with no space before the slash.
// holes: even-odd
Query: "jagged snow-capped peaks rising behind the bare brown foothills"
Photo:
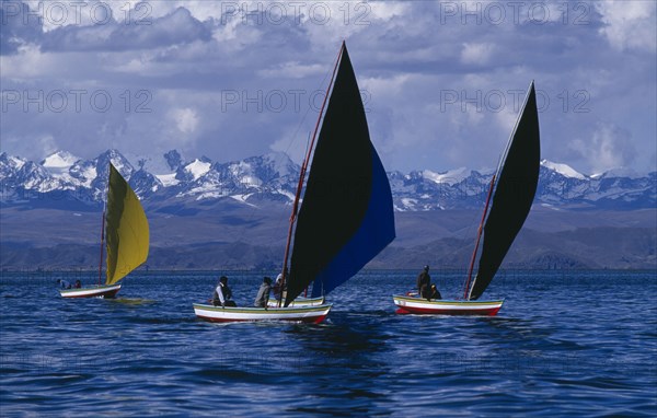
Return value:
<svg viewBox="0 0 657 418">
<path fill-rule="evenodd" d="M 185 161 L 172 150 L 159 158 L 124 156 L 108 150 L 93 160 L 59 151 L 41 163 L 0 154 L 0 201 L 46 205 L 59 201 L 100 205 L 106 186 L 108 163 L 117 167 L 147 204 L 231 199 L 258 206 L 262 201 L 290 204 L 299 166 L 285 153 L 268 153 L 228 163 L 207 156 Z M 587 176 L 566 164 L 541 162 L 537 202 L 554 207 L 638 209 L 655 208 L 657 172 L 647 175 L 610 171 Z M 422 211 L 482 206 L 492 172 L 457 169 L 443 173 L 428 170 L 388 173 L 395 210 Z"/>
</svg>

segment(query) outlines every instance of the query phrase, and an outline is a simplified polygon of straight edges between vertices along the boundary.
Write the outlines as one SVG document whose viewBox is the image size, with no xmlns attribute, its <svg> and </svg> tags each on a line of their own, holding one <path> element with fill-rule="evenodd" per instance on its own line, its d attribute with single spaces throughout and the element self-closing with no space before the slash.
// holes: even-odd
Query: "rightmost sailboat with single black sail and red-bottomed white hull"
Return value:
<svg viewBox="0 0 657 418">
<path fill-rule="evenodd" d="M 495 277 L 529 214 L 539 182 L 540 153 L 539 113 L 532 81 L 505 153 L 491 181 L 469 274 L 463 285 L 463 299 L 426 300 L 417 295 L 396 294 L 393 295 L 393 301 L 399 307 L 397 313 L 497 314 L 504 300 L 482 301 L 480 298 Z M 484 242 L 479 269 L 472 279 L 482 232 Z"/>
</svg>

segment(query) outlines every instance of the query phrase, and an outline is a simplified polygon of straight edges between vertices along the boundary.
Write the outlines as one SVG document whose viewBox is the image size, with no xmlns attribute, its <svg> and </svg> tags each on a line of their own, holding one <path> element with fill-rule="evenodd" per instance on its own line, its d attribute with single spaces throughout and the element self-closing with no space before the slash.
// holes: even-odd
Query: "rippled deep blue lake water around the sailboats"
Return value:
<svg viewBox="0 0 657 418">
<path fill-rule="evenodd" d="M 415 275 L 357 276 L 321 325 L 220 325 L 192 309 L 216 272 L 138 274 L 117 300 L 3 272 L 0 416 L 657 416 L 655 271 L 506 271 L 496 317 L 396 315 Z M 262 275 L 229 277 L 250 304 Z"/>
</svg>

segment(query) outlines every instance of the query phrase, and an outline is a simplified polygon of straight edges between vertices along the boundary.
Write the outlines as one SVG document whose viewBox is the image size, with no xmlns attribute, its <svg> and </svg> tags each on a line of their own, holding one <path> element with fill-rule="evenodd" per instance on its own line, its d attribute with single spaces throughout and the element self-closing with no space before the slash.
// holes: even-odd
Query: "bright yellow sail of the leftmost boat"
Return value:
<svg viewBox="0 0 657 418">
<path fill-rule="evenodd" d="M 123 279 L 148 258 L 148 219 L 128 182 L 110 163 L 105 213 L 107 276 L 105 285 Z"/>
</svg>

